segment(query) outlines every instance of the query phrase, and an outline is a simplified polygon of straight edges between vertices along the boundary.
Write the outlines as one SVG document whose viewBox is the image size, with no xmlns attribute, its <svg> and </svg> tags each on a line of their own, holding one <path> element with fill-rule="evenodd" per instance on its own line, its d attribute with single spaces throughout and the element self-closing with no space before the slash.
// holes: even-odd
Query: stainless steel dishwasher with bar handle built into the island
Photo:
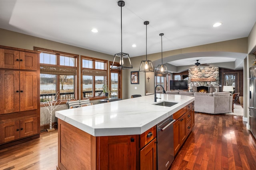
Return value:
<svg viewBox="0 0 256 170">
<path fill-rule="evenodd" d="M 168 170 L 174 160 L 172 115 L 157 125 L 158 170 Z"/>
</svg>

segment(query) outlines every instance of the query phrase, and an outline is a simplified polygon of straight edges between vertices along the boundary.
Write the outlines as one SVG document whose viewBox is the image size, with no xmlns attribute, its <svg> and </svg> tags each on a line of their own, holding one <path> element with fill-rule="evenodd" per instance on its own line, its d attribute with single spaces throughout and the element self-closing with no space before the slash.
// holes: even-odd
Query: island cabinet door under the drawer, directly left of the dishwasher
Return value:
<svg viewBox="0 0 256 170">
<path fill-rule="evenodd" d="M 156 170 L 156 138 L 140 150 L 140 170 Z"/>
</svg>

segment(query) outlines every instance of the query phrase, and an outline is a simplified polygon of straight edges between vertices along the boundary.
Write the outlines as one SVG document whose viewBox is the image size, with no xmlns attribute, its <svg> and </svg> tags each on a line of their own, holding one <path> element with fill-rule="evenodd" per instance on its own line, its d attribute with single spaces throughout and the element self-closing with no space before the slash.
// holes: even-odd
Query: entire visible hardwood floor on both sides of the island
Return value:
<svg viewBox="0 0 256 170">
<path fill-rule="evenodd" d="M 58 132 L 0 150 L 0 170 L 56 170 Z M 256 170 L 256 140 L 242 117 L 195 113 L 171 170 Z"/>
</svg>

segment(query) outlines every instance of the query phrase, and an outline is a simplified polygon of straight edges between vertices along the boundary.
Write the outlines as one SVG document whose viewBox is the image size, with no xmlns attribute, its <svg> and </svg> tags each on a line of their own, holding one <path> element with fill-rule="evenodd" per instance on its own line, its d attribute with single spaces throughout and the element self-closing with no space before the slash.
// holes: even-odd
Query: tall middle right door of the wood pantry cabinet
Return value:
<svg viewBox="0 0 256 170">
<path fill-rule="evenodd" d="M 37 109 L 37 73 L 20 71 L 20 111 Z"/>
</svg>

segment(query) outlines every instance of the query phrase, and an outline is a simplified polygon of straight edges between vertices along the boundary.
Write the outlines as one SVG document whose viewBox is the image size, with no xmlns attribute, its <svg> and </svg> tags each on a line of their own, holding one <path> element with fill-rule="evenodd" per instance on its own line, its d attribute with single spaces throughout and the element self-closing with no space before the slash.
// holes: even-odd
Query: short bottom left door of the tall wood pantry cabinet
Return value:
<svg viewBox="0 0 256 170">
<path fill-rule="evenodd" d="M 20 121 L 0 124 L 0 143 L 6 143 L 20 138 Z"/>
</svg>

